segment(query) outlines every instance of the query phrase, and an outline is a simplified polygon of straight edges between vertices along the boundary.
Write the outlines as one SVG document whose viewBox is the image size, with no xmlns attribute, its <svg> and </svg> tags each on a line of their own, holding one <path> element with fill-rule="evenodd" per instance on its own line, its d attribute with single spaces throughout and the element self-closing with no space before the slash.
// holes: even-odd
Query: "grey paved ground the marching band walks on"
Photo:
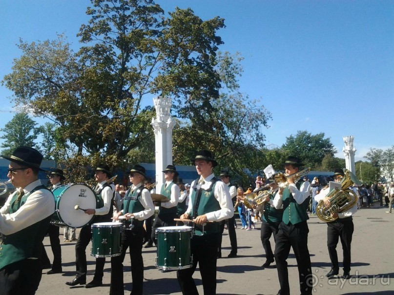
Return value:
<svg viewBox="0 0 394 295">
<path fill-rule="evenodd" d="M 313 294 L 317 295 L 394 295 L 394 214 L 386 214 L 386 207 L 373 206 L 359 210 L 353 218 L 354 234 L 352 242 L 352 271 L 349 280 L 341 278 L 327 279 L 330 271 L 330 259 L 327 252 L 327 225 L 318 217 L 311 216 L 309 224 L 308 247 L 311 254 L 312 273 L 314 274 Z M 239 221 L 239 220 L 238 220 Z M 238 223 L 239 224 L 239 223 Z M 238 226 L 238 257 L 227 258 L 230 251 L 229 238 L 225 230 L 222 255 L 217 266 L 217 294 L 220 295 L 272 295 L 279 290 L 275 268 L 261 269 L 265 262 L 264 250 L 260 240 L 260 223 L 252 231 L 241 230 Z M 61 236 L 62 240 L 62 236 Z M 48 256 L 52 257 L 49 237 L 44 245 Z M 273 246 L 273 240 L 272 240 Z M 338 244 L 338 257 L 342 259 L 342 250 Z M 90 251 L 90 246 L 88 252 Z M 89 253 L 88 253 L 89 254 Z M 155 268 L 156 248 L 143 249 L 145 272 L 144 294 L 181 295 L 175 272 L 162 273 Z M 88 257 L 89 282 L 94 273 L 94 259 Z M 90 295 L 109 294 L 110 263 L 107 259 L 104 269 L 104 286 L 85 289 L 83 286 L 68 287 L 64 282 L 75 275 L 75 243 L 62 242 L 63 274 L 42 275 L 40 295 Z M 290 252 L 289 279 L 291 294 L 298 295 L 298 271 L 295 257 Z M 130 258 L 124 261 L 125 294 L 131 290 Z M 198 270 L 198 269 L 197 269 Z M 342 269 L 340 270 L 342 274 Z M 203 294 L 201 276 L 194 275 L 200 294 Z"/>
</svg>

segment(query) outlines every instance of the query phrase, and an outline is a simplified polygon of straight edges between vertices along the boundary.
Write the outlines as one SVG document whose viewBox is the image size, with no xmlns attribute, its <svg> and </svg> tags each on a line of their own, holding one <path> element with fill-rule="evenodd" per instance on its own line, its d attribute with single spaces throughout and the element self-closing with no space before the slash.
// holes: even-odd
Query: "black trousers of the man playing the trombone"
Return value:
<svg viewBox="0 0 394 295">
<path fill-rule="evenodd" d="M 275 242 L 275 260 L 281 295 L 290 295 L 289 273 L 286 261 L 289 257 L 290 247 L 293 248 L 297 260 L 301 295 L 310 295 L 312 293 L 308 233 L 309 229 L 306 221 L 297 224 L 285 224 L 283 222 L 279 224 Z"/>
</svg>

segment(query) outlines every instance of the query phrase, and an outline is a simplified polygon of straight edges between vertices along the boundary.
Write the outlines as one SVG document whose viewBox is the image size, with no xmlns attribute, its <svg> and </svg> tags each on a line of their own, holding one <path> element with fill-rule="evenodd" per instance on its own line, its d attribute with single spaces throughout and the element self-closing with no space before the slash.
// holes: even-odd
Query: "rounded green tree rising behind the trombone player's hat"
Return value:
<svg viewBox="0 0 394 295">
<path fill-rule="evenodd" d="M 330 138 L 324 138 L 323 132 L 312 135 L 307 131 L 298 131 L 295 136 L 286 138 L 282 148 L 288 155 L 299 157 L 311 169 L 319 167 L 327 154 L 333 156 L 336 153 Z"/>
</svg>

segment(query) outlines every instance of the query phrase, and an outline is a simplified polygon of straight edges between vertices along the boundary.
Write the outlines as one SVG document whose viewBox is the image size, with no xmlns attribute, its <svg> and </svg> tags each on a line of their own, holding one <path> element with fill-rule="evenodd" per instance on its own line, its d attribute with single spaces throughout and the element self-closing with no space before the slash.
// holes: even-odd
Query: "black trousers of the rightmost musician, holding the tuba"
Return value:
<svg viewBox="0 0 394 295">
<path fill-rule="evenodd" d="M 336 253 L 336 245 L 339 238 L 341 239 L 343 250 L 343 271 L 350 272 L 351 254 L 350 244 L 352 243 L 352 236 L 354 225 L 352 218 L 336 219 L 333 222 L 327 223 L 327 247 L 329 250 L 332 268 L 339 270 L 338 255 Z"/>
</svg>

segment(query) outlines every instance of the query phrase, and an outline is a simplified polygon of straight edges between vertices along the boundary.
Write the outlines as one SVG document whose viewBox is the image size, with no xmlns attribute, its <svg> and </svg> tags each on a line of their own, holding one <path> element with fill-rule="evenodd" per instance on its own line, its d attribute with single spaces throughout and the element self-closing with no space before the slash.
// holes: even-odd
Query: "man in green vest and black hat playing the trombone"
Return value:
<svg viewBox="0 0 394 295">
<path fill-rule="evenodd" d="M 297 157 L 288 157 L 284 163 L 287 175 L 299 171 L 301 162 Z M 275 242 L 275 260 L 278 270 L 280 295 L 290 295 L 287 258 L 290 247 L 293 248 L 297 259 L 301 295 L 310 295 L 312 286 L 308 284 L 311 277 L 311 258 L 308 250 L 308 224 L 307 214 L 310 191 L 309 181 L 299 180 L 294 183 L 293 178 L 288 178 L 288 186 L 280 188 L 276 193 L 273 204 L 276 209 L 283 206 L 282 222 L 279 224 Z"/>
</svg>

